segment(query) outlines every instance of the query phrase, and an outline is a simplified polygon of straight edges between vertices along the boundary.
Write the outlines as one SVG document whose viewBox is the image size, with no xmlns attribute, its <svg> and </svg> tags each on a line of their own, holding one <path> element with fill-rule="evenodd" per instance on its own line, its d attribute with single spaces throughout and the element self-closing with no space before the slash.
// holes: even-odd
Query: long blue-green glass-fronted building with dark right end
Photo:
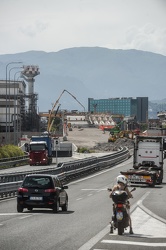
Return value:
<svg viewBox="0 0 166 250">
<path fill-rule="evenodd" d="M 146 122 L 148 119 L 148 97 L 88 98 L 88 112 L 134 116 L 137 122 Z"/>
</svg>

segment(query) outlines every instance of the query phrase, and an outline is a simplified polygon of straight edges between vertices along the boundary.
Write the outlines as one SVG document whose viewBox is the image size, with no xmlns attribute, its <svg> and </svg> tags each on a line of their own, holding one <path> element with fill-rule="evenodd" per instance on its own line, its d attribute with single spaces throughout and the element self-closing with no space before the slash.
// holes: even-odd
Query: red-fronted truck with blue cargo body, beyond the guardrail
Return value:
<svg viewBox="0 0 166 250">
<path fill-rule="evenodd" d="M 49 135 L 32 136 L 29 143 L 29 165 L 52 163 L 52 138 Z"/>
</svg>

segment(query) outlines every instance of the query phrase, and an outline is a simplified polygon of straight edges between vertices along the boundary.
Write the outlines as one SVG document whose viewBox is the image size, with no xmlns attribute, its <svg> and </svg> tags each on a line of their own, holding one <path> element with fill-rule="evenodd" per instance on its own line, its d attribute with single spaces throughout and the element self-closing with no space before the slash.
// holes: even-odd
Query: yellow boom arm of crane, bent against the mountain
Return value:
<svg viewBox="0 0 166 250">
<path fill-rule="evenodd" d="M 56 102 L 54 103 L 54 105 L 53 105 L 51 111 L 49 112 L 49 116 L 48 116 L 48 125 L 47 125 L 47 131 L 48 131 L 48 132 L 51 131 L 52 125 L 53 125 L 53 123 L 54 123 L 54 118 L 56 117 L 56 115 L 57 115 L 57 113 L 58 113 L 59 106 L 58 106 L 58 108 L 57 108 L 57 110 L 56 110 L 56 113 L 55 113 L 54 118 L 51 120 L 52 114 L 53 114 L 53 112 L 54 112 L 55 107 L 56 107 L 57 104 L 59 103 L 59 100 L 60 100 L 61 96 L 64 94 L 64 92 L 67 92 L 69 95 L 71 95 L 71 96 L 72 96 L 72 97 L 73 97 L 73 98 L 83 107 L 84 112 L 85 112 L 85 107 L 77 100 L 77 98 L 76 98 L 74 95 L 72 95 L 68 90 L 64 89 L 64 90 L 62 91 L 62 93 L 60 94 L 60 96 L 58 97 L 58 99 L 56 100 Z"/>
</svg>

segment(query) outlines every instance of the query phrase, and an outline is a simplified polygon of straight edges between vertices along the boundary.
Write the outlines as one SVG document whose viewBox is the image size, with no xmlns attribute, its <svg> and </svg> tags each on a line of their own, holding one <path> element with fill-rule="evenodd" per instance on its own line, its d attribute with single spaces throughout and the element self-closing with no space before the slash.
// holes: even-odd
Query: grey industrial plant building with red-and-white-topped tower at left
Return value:
<svg viewBox="0 0 166 250">
<path fill-rule="evenodd" d="M 23 80 L 0 80 L 0 132 L 6 133 L 6 143 L 10 143 L 10 132 L 14 132 L 14 144 L 17 144 L 21 131 L 39 129 L 38 95 L 34 92 L 34 77 L 40 74 L 39 67 L 22 68 L 20 77 Z"/>
</svg>

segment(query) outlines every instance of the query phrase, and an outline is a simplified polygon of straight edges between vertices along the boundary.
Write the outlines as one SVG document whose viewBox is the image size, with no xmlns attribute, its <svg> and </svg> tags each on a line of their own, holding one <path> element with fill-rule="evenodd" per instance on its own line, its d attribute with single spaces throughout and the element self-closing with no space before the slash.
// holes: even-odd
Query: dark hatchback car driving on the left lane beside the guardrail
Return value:
<svg viewBox="0 0 166 250">
<path fill-rule="evenodd" d="M 24 208 L 50 208 L 57 213 L 59 207 L 67 211 L 68 195 L 65 189 L 68 186 L 63 186 L 55 175 L 26 175 L 17 191 L 17 211 L 21 213 Z"/>
</svg>

